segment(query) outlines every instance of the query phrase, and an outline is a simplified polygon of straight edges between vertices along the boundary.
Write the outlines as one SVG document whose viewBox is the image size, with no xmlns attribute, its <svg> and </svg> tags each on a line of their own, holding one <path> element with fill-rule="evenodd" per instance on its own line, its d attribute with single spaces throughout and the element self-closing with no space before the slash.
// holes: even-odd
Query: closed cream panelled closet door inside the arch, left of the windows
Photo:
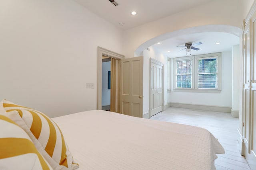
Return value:
<svg viewBox="0 0 256 170">
<path fill-rule="evenodd" d="M 150 58 L 150 117 L 162 111 L 163 66 L 163 63 Z"/>
</svg>

